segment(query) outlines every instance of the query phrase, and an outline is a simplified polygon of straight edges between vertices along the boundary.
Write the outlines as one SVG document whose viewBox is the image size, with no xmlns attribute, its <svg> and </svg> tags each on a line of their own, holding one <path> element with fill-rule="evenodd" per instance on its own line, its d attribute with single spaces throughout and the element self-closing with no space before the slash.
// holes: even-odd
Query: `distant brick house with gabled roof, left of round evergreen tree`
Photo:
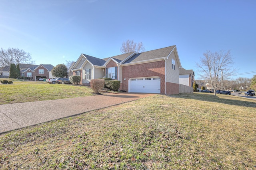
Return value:
<svg viewBox="0 0 256 170">
<path fill-rule="evenodd" d="M 38 80 L 39 78 L 52 78 L 52 66 L 51 64 L 33 65 L 29 68 L 20 71 L 20 76 L 31 77 L 32 80 Z"/>
</svg>

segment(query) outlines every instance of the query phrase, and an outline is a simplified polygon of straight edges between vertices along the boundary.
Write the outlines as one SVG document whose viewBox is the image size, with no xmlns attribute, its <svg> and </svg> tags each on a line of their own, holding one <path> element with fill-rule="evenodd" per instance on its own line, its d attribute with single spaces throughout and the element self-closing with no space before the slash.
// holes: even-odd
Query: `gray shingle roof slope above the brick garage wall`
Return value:
<svg viewBox="0 0 256 170">
<path fill-rule="evenodd" d="M 151 50 L 151 51 L 135 54 L 134 56 L 129 58 L 126 62 L 124 62 L 124 64 L 167 57 L 170 54 L 170 52 L 174 49 L 174 47 L 175 46 L 170 46 L 166 48 L 160 48 L 157 50 Z"/>
</svg>

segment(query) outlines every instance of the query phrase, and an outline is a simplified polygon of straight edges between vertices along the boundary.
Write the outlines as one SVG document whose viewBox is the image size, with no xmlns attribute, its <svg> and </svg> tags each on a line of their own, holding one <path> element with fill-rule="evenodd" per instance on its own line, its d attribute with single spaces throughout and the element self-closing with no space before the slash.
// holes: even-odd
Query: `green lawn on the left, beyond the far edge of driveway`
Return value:
<svg viewBox="0 0 256 170">
<path fill-rule="evenodd" d="M 13 84 L 0 84 L 0 104 L 34 102 L 91 95 L 92 90 L 86 86 L 49 84 L 46 82 L 34 81 L 14 81 Z"/>
</svg>

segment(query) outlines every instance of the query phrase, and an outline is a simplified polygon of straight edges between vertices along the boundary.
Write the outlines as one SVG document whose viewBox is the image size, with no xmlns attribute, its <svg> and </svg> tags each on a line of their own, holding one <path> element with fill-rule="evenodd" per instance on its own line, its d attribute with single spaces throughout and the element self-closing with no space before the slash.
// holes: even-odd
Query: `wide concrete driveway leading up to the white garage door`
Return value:
<svg viewBox="0 0 256 170">
<path fill-rule="evenodd" d="M 0 105 L 0 134 L 35 124 L 106 108 L 154 94 L 106 93 L 80 98 Z"/>
</svg>

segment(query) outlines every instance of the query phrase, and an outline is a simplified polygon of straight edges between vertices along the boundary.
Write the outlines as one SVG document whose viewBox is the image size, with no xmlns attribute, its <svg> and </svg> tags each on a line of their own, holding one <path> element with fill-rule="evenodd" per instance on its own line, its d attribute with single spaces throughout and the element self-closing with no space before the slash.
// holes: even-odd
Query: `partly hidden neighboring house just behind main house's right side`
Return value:
<svg viewBox="0 0 256 170">
<path fill-rule="evenodd" d="M 180 68 L 180 84 L 193 87 L 195 73 L 193 70 Z"/>
</svg>

